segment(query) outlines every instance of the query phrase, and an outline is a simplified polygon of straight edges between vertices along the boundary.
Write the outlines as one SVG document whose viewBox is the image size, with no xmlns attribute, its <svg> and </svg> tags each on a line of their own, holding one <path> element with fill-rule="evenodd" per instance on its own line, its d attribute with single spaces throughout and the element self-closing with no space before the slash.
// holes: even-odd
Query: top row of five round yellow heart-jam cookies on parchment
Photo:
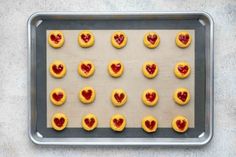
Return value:
<svg viewBox="0 0 236 157">
<path fill-rule="evenodd" d="M 176 45 L 180 48 L 187 48 L 191 43 L 192 37 L 189 32 L 179 32 L 176 35 Z M 61 31 L 51 31 L 48 35 L 48 43 L 53 48 L 63 46 L 65 37 Z M 117 48 L 126 46 L 128 37 L 124 32 L 114 32 L 111 36 L 111 44 Z M 84 30 L 78 35 L 78 43 L 82 48 L 88 48 L 94 45 L 95 36 L 91 31 Z M 156 48 L 160 43 L 160 36 L 156 32 L 148 32 L 143 37 L 143 43 L 148 48 Z"/>
</svg>

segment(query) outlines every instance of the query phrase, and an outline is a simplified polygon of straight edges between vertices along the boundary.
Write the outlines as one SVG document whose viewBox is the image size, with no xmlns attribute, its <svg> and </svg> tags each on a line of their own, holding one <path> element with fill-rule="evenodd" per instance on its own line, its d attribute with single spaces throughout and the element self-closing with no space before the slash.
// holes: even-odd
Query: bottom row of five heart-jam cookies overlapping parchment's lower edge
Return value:
<svg viewBox="0 0 236 157">
<path fill-rule="evenodd" d="M 51 125 L 53 129 L 62 131 L 68 124 L 68 118 L 64 113 L 55 113 L 51 119 Z M 82 128 L 86 131 L 94 130 L 98 125 L 98 119 L 94 114 L 87 114 L 81 120 Z M 122 132 L 126 127 L 126 118 L 124 115 L 115 114 L 110 119 L 110 127 L 113 131 Z M 188 130 L 188 119 L 185 116 L 176 116 L 172 120 L 172 128 L 179 133 L 186 132 Z M 141 127 L 147 133 L 153 133 L 157 131 L 158 120 L 154 116 L 146 116 L 141 121 Z"/>
</svg>

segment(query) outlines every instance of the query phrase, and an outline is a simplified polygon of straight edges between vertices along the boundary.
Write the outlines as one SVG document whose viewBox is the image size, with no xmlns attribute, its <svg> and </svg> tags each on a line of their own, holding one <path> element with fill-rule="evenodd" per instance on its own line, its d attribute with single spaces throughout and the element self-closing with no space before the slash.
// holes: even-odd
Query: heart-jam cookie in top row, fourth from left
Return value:
<svg viewBox="0 0 236 157">
<path fill-rule="evenodd" d="M 144 35 L 143 43 L 147 48 L 154 49 L 160 43 L 160 36 L 156 32 L 148 32 Z"/>
</svg>

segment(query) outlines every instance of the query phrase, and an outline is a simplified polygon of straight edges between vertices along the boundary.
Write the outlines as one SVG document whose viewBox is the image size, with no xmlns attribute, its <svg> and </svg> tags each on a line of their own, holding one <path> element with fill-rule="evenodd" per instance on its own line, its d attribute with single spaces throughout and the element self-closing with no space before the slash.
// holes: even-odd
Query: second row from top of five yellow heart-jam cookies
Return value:
<svg viewBox="0 0 236 157">
<path fill-rule="evenodd" d="M 112 77 L 120 77 L 124 71 L 124 64 L 119 60 L 113 60 L 108 64 L 108 73 Z M 50 74 L 55 78 L 62 78 L 66 74 L 66 65 L 59 60 L 50 64 Z M 187 62 L 178 62 L 174 66 L 174 74 L 178 78 L 189 76 L 191 67 Z M 84 78 L 92 76 L 95 72 L 95 65 L 92 61 L 84 60 L 78 65 L 78 74 Z M 147 78 L 154 78 L 158 74 L 158 65 L 154 61 L 145 62 L 142 66 L 142 72 Z"/>
</svg>

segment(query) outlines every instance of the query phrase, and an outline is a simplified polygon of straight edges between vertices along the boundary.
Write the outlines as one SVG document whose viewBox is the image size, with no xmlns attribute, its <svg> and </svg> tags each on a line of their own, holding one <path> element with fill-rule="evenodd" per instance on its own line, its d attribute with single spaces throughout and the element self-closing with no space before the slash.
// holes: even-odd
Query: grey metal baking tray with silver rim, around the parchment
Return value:
<svg viewBox="0 0 236 157">
<path fill-rule="evenodd" d="M 28 20 L 29 136 L 42 145 L 205 145 L 213 136 L 213 20 L 205 12 L 40 12 Z M 47 128 L 46 31 L 52 29 L 193 29 L 195 31 L 195 127 L 177 134 L 171 128 L 144 134 L 127 128 L 86 133 L 67 128 L 58 134 Z"/>
</svg>

